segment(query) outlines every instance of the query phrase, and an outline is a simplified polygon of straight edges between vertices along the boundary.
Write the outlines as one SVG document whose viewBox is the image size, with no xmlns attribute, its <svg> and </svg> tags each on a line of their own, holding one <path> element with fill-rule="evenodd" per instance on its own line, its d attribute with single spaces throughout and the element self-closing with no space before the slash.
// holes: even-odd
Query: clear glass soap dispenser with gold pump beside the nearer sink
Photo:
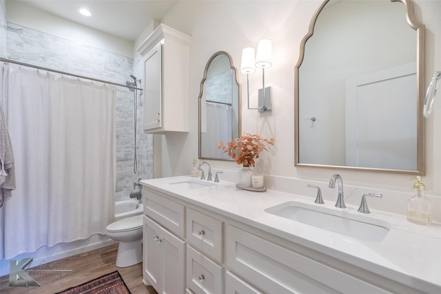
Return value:
<svg viewBox="0 0 441 294">
<path fill-rule="evenodd" d="M 413 178 L 415 179 L 415 178 Z M 430 202 L 424 197 L 426 186 L 421 182 L 421 177 L 416 177 L 416 183 L 413 184 L 413 195 L 409 199 L 407 207 L 407 220 L 416 224 L 430 224 Z"/>
</svg>

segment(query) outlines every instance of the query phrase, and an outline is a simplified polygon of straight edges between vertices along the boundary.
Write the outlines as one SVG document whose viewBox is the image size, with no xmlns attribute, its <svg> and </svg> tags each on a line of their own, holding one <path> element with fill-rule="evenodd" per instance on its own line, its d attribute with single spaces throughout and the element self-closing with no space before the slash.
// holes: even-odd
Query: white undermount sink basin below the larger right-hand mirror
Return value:
<svg viewBox="0 0 441 294">
<path fill-rule="evenodd" d="M 265 211 L 367 242 L 381 242 L 391 228 L 391 224 L 384 220 L 303 202 L 285 202 Z"/>
</svg>

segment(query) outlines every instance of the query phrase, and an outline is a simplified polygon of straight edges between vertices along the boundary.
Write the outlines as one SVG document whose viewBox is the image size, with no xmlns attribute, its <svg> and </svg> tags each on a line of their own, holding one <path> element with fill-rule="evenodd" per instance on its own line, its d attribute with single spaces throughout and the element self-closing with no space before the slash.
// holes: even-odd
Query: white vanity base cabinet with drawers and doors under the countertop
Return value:
<svg viewBox="0 0 441 294">
<path fill-rule="evenodd" d="M 176 288 L 165 293 L 424 292 L 385 277 L 380 267 L 363 269 L 210 209 L 200 202 L 205 193 L 194 200 L 146 186 L 143 195 L 143 277 L 158 293 L 167 281 Z"/>
</svg>

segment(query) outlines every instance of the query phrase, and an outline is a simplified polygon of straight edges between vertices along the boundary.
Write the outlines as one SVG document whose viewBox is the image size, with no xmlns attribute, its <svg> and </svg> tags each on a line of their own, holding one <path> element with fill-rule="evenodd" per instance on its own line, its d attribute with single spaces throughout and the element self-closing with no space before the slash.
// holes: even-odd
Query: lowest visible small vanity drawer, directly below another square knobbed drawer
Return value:
<svg viewBox="0 0 441 294">
<path fill-rule="evenodd" d="M 223 293 L 223 269 L 187 245 L 187 290 L 194 294 Z"/>
</svg>

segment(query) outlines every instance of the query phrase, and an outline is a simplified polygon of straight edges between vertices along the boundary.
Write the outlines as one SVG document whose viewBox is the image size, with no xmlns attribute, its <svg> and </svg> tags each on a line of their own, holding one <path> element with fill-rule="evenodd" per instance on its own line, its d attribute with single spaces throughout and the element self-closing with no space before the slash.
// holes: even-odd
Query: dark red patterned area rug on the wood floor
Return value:
<svg viewBox="0 0 441 294">
<path fill-rule="evenodd" d="M 118 271 L 107 273 L 94 280 L 74 286 L 56 294 L 130 294 L 129 288 Z"/>
</svg>

